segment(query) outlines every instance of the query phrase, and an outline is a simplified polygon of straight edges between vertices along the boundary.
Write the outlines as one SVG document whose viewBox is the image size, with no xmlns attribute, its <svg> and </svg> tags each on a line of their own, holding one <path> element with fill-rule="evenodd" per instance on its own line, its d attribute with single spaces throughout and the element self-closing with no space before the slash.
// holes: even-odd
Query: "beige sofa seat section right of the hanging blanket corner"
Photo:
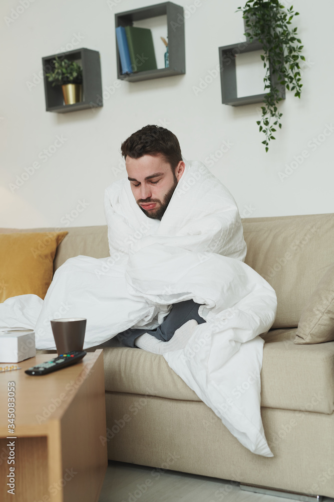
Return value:
<svg viewBox="0 0 334 502">
<path fill-rule="evenodd" d="M 331 414 L 334 342 L 296 345 L 296 331 L 274 329 L 262 336 L 261 406 Z"/>
</svg>

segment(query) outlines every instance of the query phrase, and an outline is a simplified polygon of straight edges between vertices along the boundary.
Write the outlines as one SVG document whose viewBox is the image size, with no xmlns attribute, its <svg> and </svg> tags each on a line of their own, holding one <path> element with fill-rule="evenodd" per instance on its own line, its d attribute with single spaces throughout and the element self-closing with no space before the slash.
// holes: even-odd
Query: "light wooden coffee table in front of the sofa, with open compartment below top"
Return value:
<svg viewBox="0 0 334 502">
<path fill-rule="evenodd" d="M 97 502 L 99 498 L 108 463 L 101 441 L 106 436 L 103 351 L 88 352 L 77 364 L 47 375 L 24 372 L 53 357 L 57 354 L 39 354 L 18 363 L 20 370 L 0 373 L 2 501 Z M 15 434 L 9 433 L 8 421 L 9 392 L 13 394 L 8 384 L 13 382 Z M 15 463 L 8 463 L 13 457 Z M 13 475 L 10 467 L 15 467 L 14 497 L 7 491 L 8 476 Z"/>
</svg>

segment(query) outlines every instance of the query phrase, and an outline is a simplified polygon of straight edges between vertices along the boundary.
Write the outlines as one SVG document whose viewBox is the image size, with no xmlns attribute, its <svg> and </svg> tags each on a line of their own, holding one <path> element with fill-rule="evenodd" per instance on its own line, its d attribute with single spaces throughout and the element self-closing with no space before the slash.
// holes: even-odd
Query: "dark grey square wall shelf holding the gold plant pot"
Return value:
<svg viewBox="0 0 334 502">
<path fill-rule="evenodd" d="M 52 86 L 46 73 L 54 68 L 52 61 L 59 59 L 68 59 L 69 61 L 78 61 L 82 66 L 83 74 L 83 101 L 74 104 L 64 104 L 61 85 Z M 77 49 L 75 51 L 62 52 L 52 56 L 42 58 L 44 73 L 44 90 L 47 111 L 57 113 L 67 113 L 68 111 L 84 110 L 87 108 L 96 108 L 103 106 L 102 99 L 102 81 L 101 81 L 101 63 L 100 53 L 91 49 Z"/>
</svg>

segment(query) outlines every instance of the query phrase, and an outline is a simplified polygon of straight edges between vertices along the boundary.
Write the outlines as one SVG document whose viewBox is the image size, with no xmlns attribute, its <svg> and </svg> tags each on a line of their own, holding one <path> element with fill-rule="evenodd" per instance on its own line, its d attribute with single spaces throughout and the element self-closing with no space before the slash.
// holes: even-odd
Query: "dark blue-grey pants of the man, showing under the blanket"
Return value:
<svg viewBox="0 0 334 502">
<path fill-rule="evenodd" d="M 121 333 L 118 333 L 117 338 L 122 343 L 122 345 L 127 345 L 128 347 L 135 346 L 135 339 L 142 335 L 143 333 L 149 333 L 152 336 L 168 342 L 175 331 L 180 328 L 183 324 L 190 319 L 195 319 L 198 324 L 206 322 L 203 317 L 198 314 L 199 303 L 195 303 L 193 300 L 186 300 L 185 302 L 174 303 L 171 311 L 165 317 L 164 321 L 160 326 L 155 329 L 133 329 L 129 328 Z"/>
</svg>

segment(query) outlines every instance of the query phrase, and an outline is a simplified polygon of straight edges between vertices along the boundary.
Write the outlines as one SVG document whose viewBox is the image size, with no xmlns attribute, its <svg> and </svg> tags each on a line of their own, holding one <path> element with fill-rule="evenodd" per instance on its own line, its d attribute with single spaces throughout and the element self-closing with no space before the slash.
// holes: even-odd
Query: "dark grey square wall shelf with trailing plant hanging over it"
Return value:
<svg viewBox="0 0 334 502">
<path fill-rule="evenodd" d="M 254 42 L 239 42 L 237 44 L 226 45 L 219 47 L 219 62 L 220 62 L 220 82 L 221 82 L 221 98 L 223 104 L 231 106 L 240 106 L 242 104 L 252 104 L 263 102 L 264 96 L 267 92 L 256 94 L 253 96 L 237 97 L 237 84 L 236 84 L 236 68 L 235 56 L 237 54 L 259 51 L 262 49 L 262 44 L 258 41 Z M 279 89 L 279 95 L 285 99 L 285 86 L 278 84 L 276 74 L 271 75 L 273 83 Z"/>
</svg>

